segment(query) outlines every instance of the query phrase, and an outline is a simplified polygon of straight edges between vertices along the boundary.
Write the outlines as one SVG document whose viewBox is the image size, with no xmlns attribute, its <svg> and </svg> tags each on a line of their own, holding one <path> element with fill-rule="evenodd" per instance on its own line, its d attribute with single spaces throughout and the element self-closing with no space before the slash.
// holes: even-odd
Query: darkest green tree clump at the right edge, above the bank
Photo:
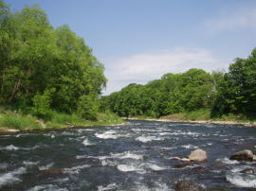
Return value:
<svg viewBox="0 0 256 191">
<path fill-rule="evenodd" d="M 217 85 L 217 97 L 212 116 L 222 114 L 256 114 L 256 49 L 247 59 L 236 59 L 229 72 Z"/>
</svg>

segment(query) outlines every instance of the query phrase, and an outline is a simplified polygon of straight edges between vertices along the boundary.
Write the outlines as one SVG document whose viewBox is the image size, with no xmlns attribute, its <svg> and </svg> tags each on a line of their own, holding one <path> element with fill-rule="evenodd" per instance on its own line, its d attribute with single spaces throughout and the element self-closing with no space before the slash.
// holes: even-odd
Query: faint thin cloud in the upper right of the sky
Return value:
<svg viewBox="0 0 256 191">
<path fill-rule="evenodd" d="M 205 23 L 212 34 L 232 29 L 256 29 L 256 8 L 232 9 Z"/>
</svg>

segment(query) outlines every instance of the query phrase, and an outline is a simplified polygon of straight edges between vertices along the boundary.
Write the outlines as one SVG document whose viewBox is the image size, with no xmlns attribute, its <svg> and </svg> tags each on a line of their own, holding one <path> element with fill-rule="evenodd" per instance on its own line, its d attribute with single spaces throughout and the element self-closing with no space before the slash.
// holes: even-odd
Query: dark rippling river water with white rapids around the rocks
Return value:
<svg viewBox="0 0 256 191">
<path fill-rule="evenodd" d="M 0 190 L 173 190 L 188 182 L 206 190 L 255 190 L 256 163 L 229 161 L 256 151 L 256 129 L 201 124 L 131 125 L 0 136 Z M 175 168 L 170 157 L 195 148 L 206 164 Z"/>
</svg>

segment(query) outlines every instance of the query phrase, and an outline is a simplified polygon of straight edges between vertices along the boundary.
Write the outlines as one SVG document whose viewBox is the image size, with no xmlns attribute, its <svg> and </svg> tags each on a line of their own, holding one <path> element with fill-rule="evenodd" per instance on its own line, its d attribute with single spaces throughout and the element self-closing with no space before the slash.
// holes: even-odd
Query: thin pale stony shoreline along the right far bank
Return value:
<svg viewBox="0 0 256 191">
<path fill-rule="evenodd" d="M 256 128 L 256 122 L 235 122 L 235 121 L 213 121 L 213 120 L 172 120 L 172 119 L 157 119 L 157 118 L 148 118 L 148 119 L 140 119 L 137 117 L 128 117 L 122 119 L 125 120 L 131 120 L 131 121 L 158 121 L 158 122 L 170 122 L 170 123 L 197 123 L 197 124 L 213 124 L 213 125 L 232 125 L 232 126 L 245 126 L 245 127 L 250 127 L 250 128 Z"/>
</svg>

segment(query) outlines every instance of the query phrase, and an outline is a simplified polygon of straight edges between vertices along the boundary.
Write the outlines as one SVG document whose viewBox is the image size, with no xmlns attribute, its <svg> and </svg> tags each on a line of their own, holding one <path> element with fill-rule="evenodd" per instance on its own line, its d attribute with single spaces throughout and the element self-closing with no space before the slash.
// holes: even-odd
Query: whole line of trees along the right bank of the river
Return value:
<svg viewBox="0 0 256 191">
<path fill-rule="evenodd" d="M 210 110 L 210 117 L 223 114 L 256 114 L 256 49 L 247 59 L 236 59 L 229 72 L 208 73 L 191 69 L 166 74 L 146 85 L 130 84 L 101 99 L 101 110 L 120 116 L 160 117 L 173 113 Z"/>
</svg>

